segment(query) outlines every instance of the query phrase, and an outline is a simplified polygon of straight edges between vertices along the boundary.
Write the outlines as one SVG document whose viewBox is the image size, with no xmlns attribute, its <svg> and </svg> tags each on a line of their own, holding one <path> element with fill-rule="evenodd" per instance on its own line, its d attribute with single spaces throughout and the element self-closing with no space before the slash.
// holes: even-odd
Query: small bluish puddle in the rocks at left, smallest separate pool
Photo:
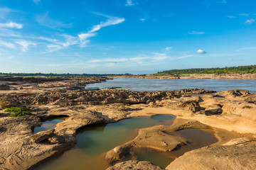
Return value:
<svg viewBox="0 0 256 170">
<path fill-rule="evenodd" d="M 42 121 L 42 125 L 40 127 L 36 127 L 33 129 L 33 133 L 50 130 L 56 127 L 57 123 L 63 122 L 68 117 L 55 117 L 48 118 L 47 120 Z"/>
</svg>

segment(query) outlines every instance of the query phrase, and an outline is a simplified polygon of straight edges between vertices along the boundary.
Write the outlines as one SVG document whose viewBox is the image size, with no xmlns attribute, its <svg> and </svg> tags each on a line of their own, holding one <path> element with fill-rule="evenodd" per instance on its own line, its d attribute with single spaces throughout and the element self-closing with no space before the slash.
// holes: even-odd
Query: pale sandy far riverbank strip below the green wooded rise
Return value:
<svg viewBox="0 0 256 170">
<path fill-rule="evenodd" d="M 137 79 L 256 79 L 256 74 L 146 74 L 113 76 L 115 78 Z"/>
</svg>

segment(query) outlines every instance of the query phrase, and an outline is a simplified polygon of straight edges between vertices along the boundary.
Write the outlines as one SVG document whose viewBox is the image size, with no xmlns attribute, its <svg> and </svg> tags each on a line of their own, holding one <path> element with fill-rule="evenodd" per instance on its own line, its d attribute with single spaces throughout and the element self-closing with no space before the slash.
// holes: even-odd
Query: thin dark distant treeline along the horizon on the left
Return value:
<svg viewBox="0 0 256 170">
<path fill-rule="evenodd" d="M 44 76 L 44 77 L 107 77 L 107 76 L 116 76 L 116 75 L 131 75 L 129 73 L 125 74 L 56 74 L 56 73 L 49 73 L 49 74 L 44 74 L 44 73 L 1 73 L 0 72 L 0 77 L 37 77 L 37 76 Z"/>
</svg>

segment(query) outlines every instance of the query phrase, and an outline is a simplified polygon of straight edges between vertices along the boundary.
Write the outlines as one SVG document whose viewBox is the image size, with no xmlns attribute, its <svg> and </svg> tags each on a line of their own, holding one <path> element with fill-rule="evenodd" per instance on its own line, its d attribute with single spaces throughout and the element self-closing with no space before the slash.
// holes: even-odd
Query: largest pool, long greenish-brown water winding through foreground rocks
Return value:
<svg viewBox="0 0 256 170">
<path fill-rule="evenodd" d="M 174 115 L 129 118 L 117 123 L 89 125 L 78 130 L 78 144 L 60 157 L 38 167 L 40 170 L 103 170 L 110 164 L 104 159 L 110 149 L 133 140 L 139 128 L 171 125 Z"/>
</svg>

